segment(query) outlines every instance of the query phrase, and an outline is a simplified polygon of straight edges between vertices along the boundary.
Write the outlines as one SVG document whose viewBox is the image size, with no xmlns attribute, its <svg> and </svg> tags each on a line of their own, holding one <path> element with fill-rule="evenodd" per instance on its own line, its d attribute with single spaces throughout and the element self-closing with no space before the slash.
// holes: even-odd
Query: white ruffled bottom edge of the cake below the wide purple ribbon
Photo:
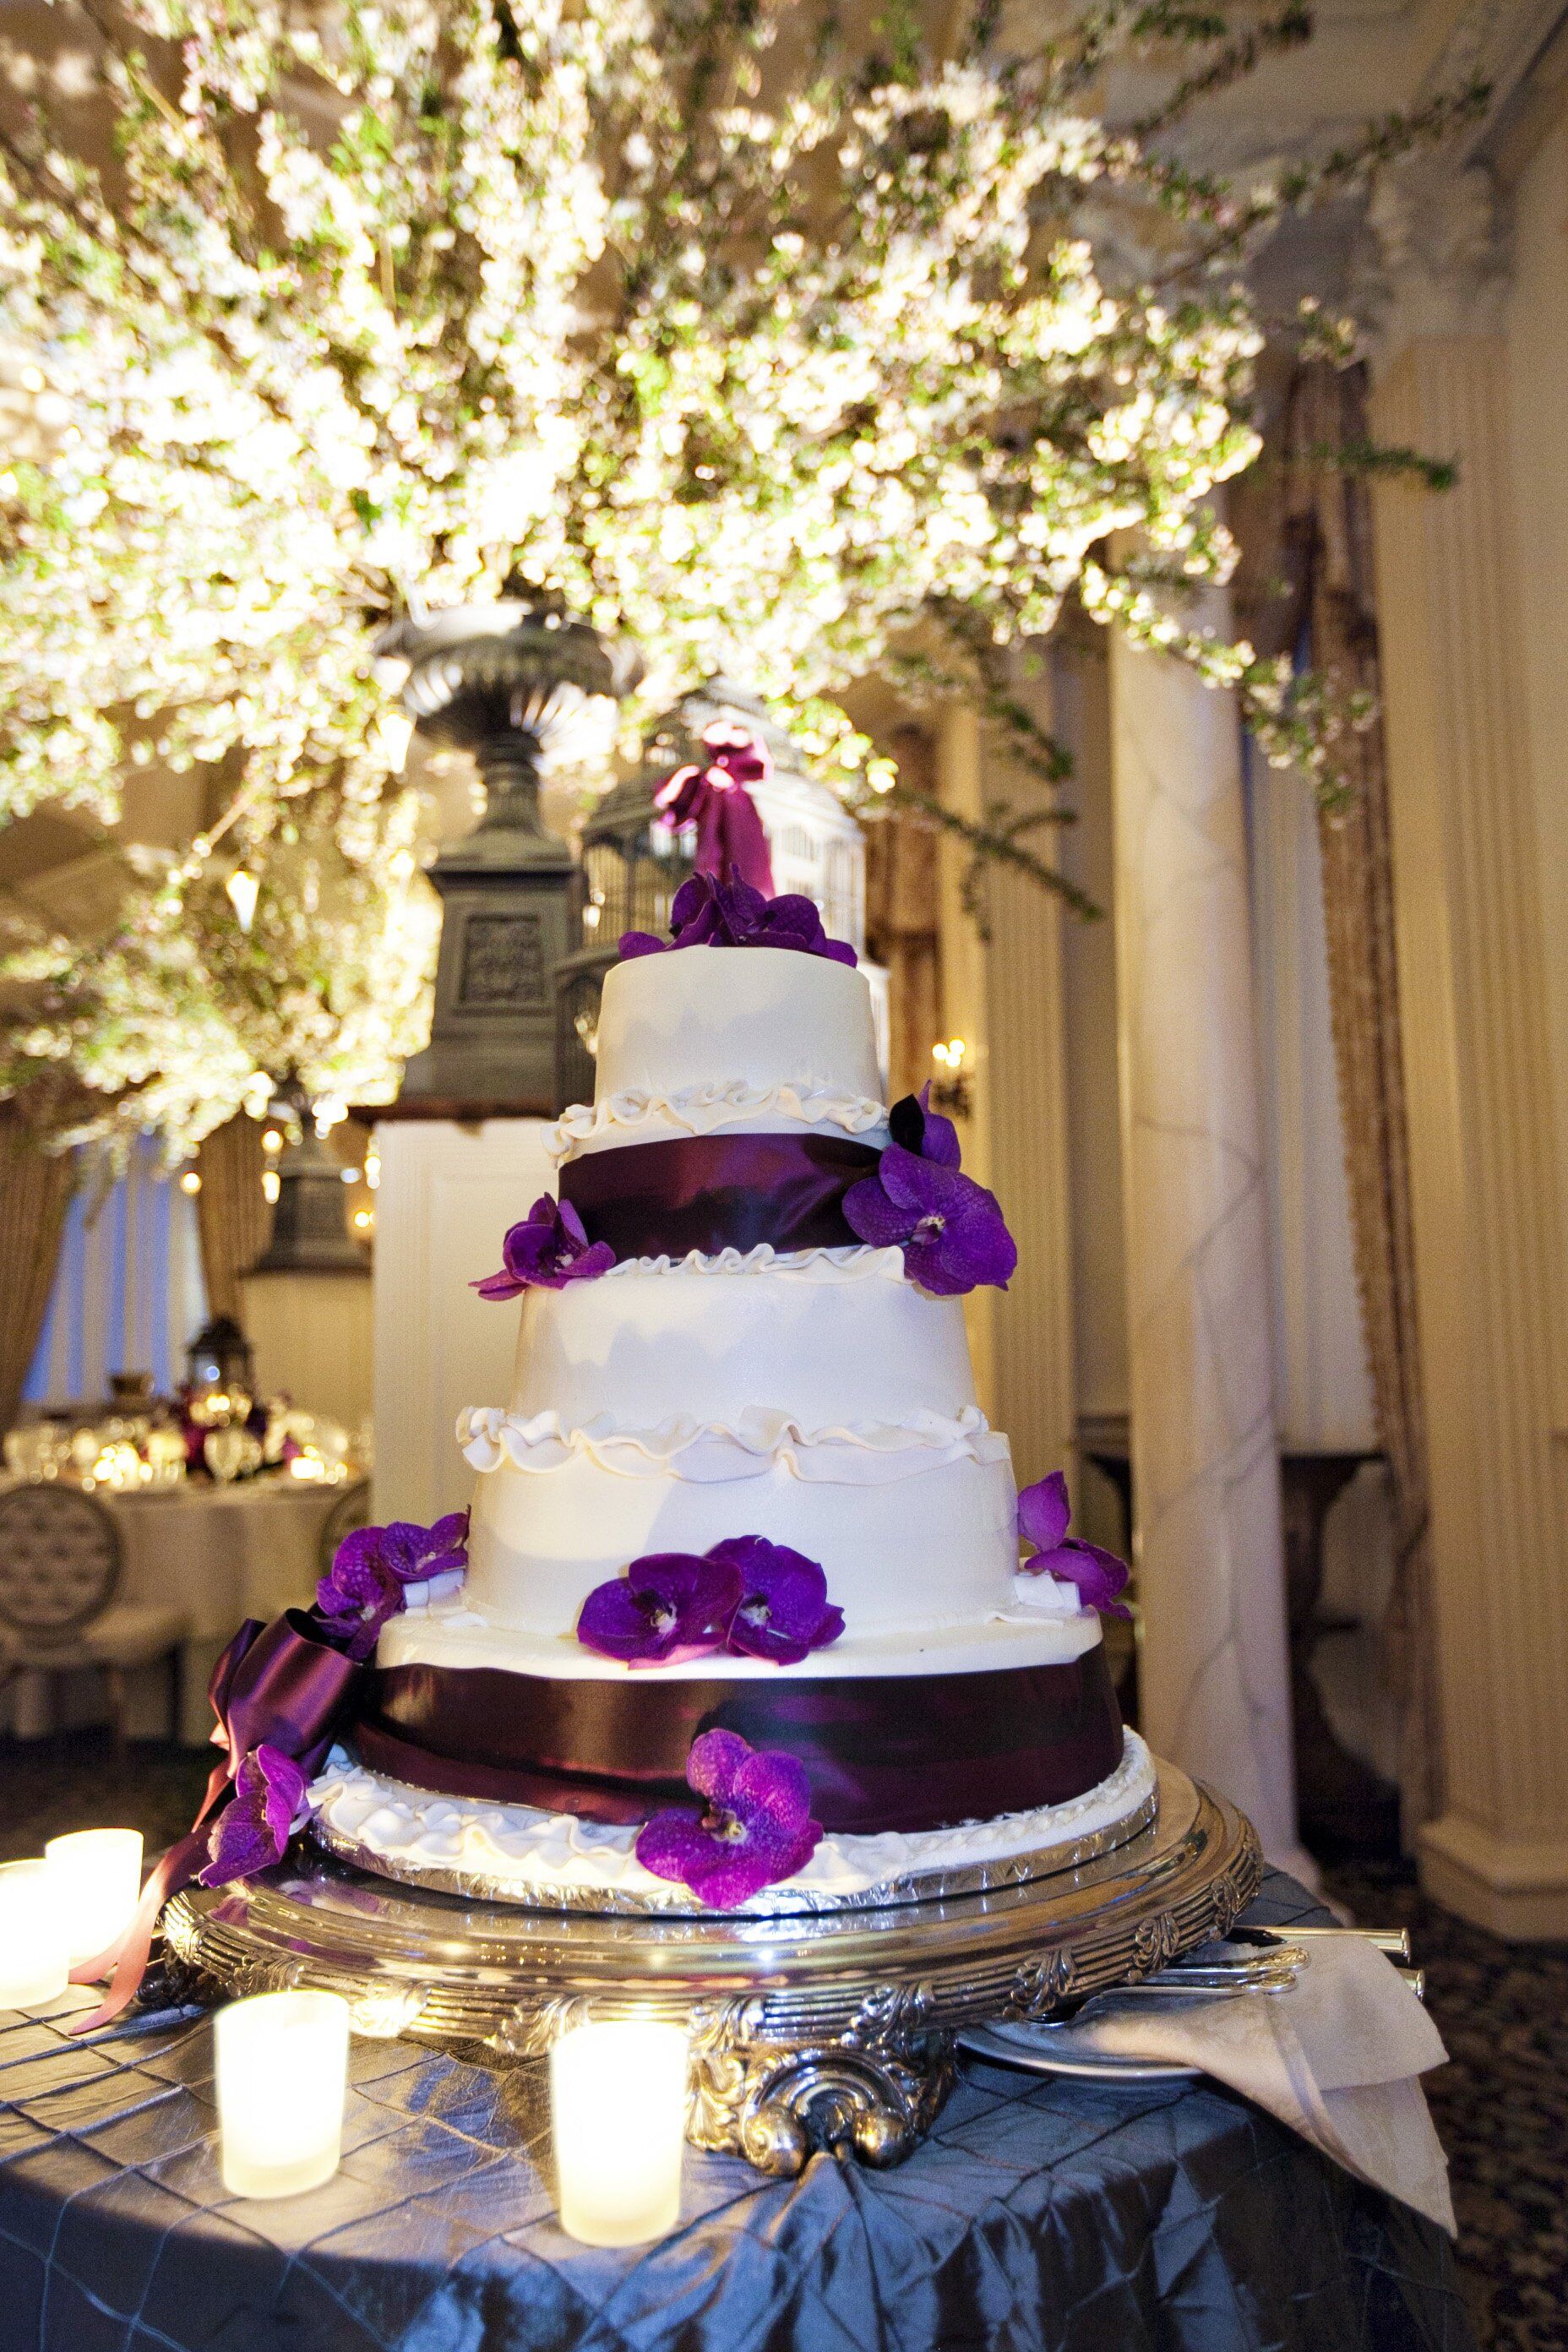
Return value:
<svg viewBox="0 0 1568 2352">
<path fill-rule="evenodd" d="M 390 1879 L 531 1910 L 684 1917 L 703 1910 L 684 1886 L 642 1867 L 635 1825 L 437 1795 L 371 1771 L 341 1748 L 310 1802 L 313 1832 L 327 1851 Z M 804 1870 L 738 1910 L 788 1917 L 1020 1884 L 1107 1853 L 1145 1830 L 1154 1809 L 1154 1762 L 1138 1733 L 1126 1731 L 1117 1766 L 1077 1797 L 940 1830 L 865 1837 L 830 1830 Z"/>
</svg>

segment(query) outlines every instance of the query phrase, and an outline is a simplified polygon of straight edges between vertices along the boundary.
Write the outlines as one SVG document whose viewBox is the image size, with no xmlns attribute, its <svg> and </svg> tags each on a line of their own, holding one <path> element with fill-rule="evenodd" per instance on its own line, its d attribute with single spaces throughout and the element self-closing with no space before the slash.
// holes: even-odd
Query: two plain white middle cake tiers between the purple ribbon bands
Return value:
<svg viewBox="0 0 1568 2352">
<path fill-rule="evenodd" d="M 750 1534 L 820 1562 L 856 1632 L 1013 1606 L 1013 1479 L 964 1310 L 896 1249 L 529 1291 L 510 1406 L 465 1414 L 458 1442 L 482 1472 L 468 1604 L 494 1625 L 569 1635 L 644 1552 Z"/>
</svg>

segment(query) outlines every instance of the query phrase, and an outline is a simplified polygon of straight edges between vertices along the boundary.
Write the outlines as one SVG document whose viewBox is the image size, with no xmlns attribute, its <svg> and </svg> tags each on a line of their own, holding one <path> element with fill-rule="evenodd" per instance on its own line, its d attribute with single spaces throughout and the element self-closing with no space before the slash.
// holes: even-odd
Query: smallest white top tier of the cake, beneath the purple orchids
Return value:
<svg viewBox="0 0 1568 2352">
<path fill-rule="evenodd" d="M 879 1110 L 865 978 L 788 948 L 677 948 L 614 967 L 599 1007 L 599 1110 L 616 1096 L 670 1103 L 736 1082 Z"/>
</svg>

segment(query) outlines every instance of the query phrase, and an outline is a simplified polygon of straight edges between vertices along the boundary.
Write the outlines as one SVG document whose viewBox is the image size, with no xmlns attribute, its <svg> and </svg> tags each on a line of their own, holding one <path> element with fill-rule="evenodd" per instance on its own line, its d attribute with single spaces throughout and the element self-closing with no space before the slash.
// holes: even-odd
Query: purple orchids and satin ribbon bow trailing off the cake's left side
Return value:
<svg viewBox="0 0 1568 2352">
<path fill-rule="evenodd" d="M 435 1526 L 409 1519 L 362 1526 L 336 1548 L 310 1609 L 287 1609 L 270 1625 L 244 1621 L 209 1682 L 212 1743 L 223 1757 L 195 1823 L 143 1886 L 125 1936 L 71 1971 L 78 1985 L 113 1973 L 99 2009 L 75 2018 L 71 2032 L 106 2025 L 134 1997 L 169 1896 L 193 1879 L 228 1886 L 282 1860 L 310 1816 L 310 1778 L 350 1712 L 376 1635 L 414 1595 L 456 1585 L 465 1564 L 465 1510 Z"/>
</svg>

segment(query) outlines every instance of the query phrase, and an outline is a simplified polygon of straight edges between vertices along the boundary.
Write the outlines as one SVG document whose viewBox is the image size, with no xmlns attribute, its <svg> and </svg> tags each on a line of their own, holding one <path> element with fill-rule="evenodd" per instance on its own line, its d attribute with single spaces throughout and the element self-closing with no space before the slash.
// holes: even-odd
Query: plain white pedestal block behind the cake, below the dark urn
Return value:
<svg viewBox="0 0 1568 2352">
<path fill-rule="evenodd" d="M 376 1124 L 376 1508 L 428 1526 L 473 1498 L 456 1446 L 465 1404 L 512 1388 L 517 1310 L 470 1282 L 501 1265 L 505 1228 L 555 1190 L 543 1120 L 388 1117 Z"/>
</svg>

